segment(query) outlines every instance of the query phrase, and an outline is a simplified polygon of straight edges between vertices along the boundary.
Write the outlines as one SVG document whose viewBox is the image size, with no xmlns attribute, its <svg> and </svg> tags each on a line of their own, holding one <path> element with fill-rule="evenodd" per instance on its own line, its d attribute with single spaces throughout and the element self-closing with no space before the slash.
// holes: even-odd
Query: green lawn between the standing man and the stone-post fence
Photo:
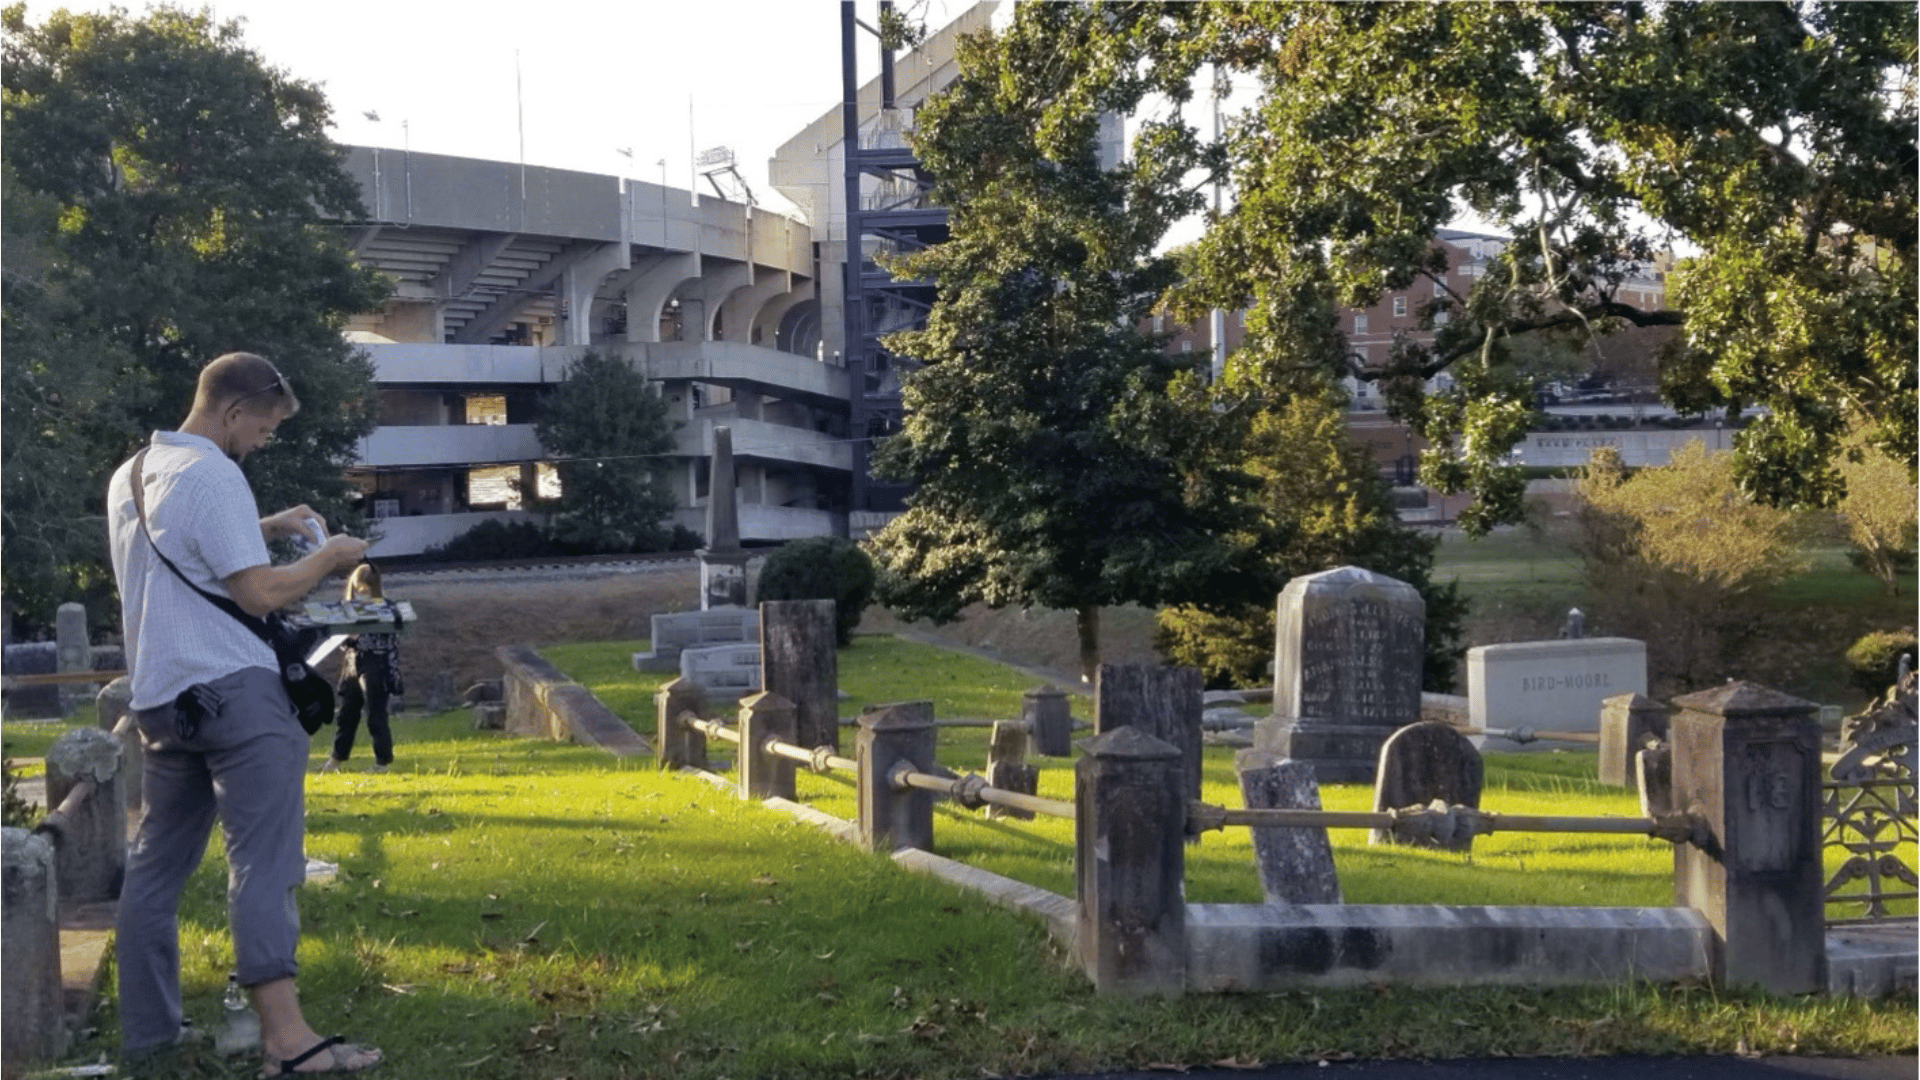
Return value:
<svg viewBox="0 0 1920 1080">
<path fill-rule="evenodd" d="M 699 780 L 472 732 L 467 713 L 399 721 L 396 742 L 394 773 L 309 778 L 309 853 L 342 872 L 300 899 L 309 1017 L 382 1045 L 392 1080 L 937 1080 L 1223 1059 L 1914 1047 L 1912 1001 L 1705 988 L 1096 997 L 1035 922 Z M 1488 801 L 1588 798 L 1572 773 L 1517 769 Z M 948 853 L 970 842 L 945 817 L 937 836 Z M 202 1022 L 230 965 L 219 840 L 213 855 L 180 926 Z M 1054 855 L 1068 857 L 1035 861 Z M 1436 867 L 1519 876 L 1478 853 L 1471 869 L 1398 849 L 1380 859 L 1398 867 L 1373 884 L 1342 863 L 1350 896 L 1398 880 L 1392 899 L 1417 899 L 1415 884 L 1427 897 Z M 69 1061 L 111 1053 L 111 1009 L 100 1020 Z M 184 1055 L 150 1074 L 248 1067 Z"/>
</svg>

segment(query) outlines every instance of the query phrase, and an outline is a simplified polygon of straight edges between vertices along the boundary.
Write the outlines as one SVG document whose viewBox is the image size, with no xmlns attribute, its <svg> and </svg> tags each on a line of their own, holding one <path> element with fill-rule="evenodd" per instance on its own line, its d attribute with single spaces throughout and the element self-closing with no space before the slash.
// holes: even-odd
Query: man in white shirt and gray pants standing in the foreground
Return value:
<svg viewBox="0 0 1920 1080">
<path fill-rule="evenodd" d="M 259 617 L 365 557 L 365 540 L 328 536 L 300 561 L 269 561 L 269 540 L 305 536 L 309 521 L 324 532 L 305 505 L 261 517 L 240 473 L 240 461 L 298 409 L 292 386 L 267 359 L 227 354 L 200 371 L 180 429 L 154 432 L 108 486 L 132 709 L 146 746 L 146 813 L 127 855 L 115 926 L 129 1059 L 180 1040 L 180 890 L 219 819 L 234 965 L 261 1019 L 267 1074 L 357 1072 L 380 1063 L 376 1049 L 317 1036 L 294 994 L 307 734 L 273 650 L 182 580 Z"/>
</svg>

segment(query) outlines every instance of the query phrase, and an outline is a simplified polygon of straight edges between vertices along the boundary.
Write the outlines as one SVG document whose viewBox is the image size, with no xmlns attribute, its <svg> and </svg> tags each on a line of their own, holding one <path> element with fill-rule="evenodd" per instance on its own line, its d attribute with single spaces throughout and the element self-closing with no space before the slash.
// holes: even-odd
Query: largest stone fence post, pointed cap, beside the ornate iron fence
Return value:
<svg viewBox="0 0 1920 1080">
<path fill-rule="evenodd" d="M 1709 834 L 1674 846 L 1674 903 L 1713 924 L 1713 982 L 1824 990 L 1816 705 L 1751 682 L 1674 705 L 1672 803 Z"/>
</svg>

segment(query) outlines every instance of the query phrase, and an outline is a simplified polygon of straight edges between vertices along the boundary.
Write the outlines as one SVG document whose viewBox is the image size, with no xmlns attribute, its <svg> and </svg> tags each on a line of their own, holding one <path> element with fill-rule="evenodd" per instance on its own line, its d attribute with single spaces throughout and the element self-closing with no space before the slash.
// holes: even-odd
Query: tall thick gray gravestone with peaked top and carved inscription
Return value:
<svg viewBox="0 0 1920 1080">
<path fill-rule="evenodd" d="M 1359 567 L 1298 577 L 1273 628 L 1273 717 L 1254 746 L 1308 761 L 1321 784 L 1371 784 L 1380 746 L 1421 719 L 1427 601 Z"/>
</svg>

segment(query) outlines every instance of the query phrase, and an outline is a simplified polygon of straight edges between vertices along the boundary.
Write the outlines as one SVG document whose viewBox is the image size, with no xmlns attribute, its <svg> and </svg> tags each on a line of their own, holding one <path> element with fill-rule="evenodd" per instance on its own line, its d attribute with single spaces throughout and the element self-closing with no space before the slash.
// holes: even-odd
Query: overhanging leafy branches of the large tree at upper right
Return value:
<svg viewBox="0 0 1920 1080">
<path fill-rule="evenodd" d="M 1680 327 L 1663 394 L 1761 411 L 1738 477 L 1763 500 L 1832 505 L 1849 425 L 1912 475 L 1914 4 L 1031 8 L 1014 25 L 1046 35 L 1046 61 L 1004 75 L 1044 98 L 1035 131 L 1158 94 L 1171 113 L 1139 167 L 1231 175 L 1179 296 L 1250 306 L 1246 359 L 1269 384 L 1352 369 L 1340 306 L 1432 296 L 1436 229 L 1473 215 L 1513 238 L 1469 290 L 1421 304 L 1430 344 L 1357 371 L 1430 440 L 1425 482 L 1475 492 L 1469 528 L 1523 513 L 1511 342 L 1557 329 Z M 1219 146 L 1179 110 L 1208 65 L 1260 90 Z M 1684 258 L 1668 307 L 1645 309 L 1622 284 L 1663 250 Z M 1442 371 L 1452 390 L 1427 394 Z"/>
</svg>

